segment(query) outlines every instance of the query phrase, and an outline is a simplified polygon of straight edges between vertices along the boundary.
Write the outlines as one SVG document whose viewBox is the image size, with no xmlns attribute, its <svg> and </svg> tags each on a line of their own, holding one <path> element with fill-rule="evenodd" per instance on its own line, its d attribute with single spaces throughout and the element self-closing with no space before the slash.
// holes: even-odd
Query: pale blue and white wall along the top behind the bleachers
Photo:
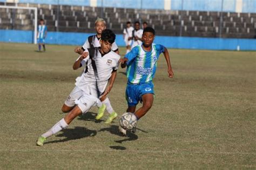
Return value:
<svg viewBox="0 0 256 170">
<path fill-rule="evenodd" d="M 221 11 L 223 9 L 225 12 L 256 13 L 256 0 L 0 0 L 0 2 L 190 11 Z"/>
</svg>

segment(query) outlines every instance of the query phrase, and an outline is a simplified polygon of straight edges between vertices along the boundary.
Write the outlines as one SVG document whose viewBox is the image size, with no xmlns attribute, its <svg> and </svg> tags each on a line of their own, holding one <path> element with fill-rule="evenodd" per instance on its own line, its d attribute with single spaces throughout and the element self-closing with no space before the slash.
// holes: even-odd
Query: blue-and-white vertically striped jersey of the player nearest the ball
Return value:
<svg viewBox="0 0 256 170">
<path fill-rule="evenodd" d="M 145 51 L 142 44 L 134 47 L 125 55 L 127 61 L 126 76 L 129 84 L 149 83 L 154 78 L 157 70 L 157 60 L 165 47 L 160 44 L 152 44 L 151 51 Z"/>
</svg>

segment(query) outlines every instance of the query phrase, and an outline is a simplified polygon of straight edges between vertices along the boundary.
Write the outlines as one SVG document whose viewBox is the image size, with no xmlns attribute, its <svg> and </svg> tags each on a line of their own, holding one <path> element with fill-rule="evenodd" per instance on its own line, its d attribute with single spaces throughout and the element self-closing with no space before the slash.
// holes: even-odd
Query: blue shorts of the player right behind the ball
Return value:
<svg viewBox="0 0 256 170">
<path fill-rule="evenodd" d="M 154 84 L 127 84 L 125 96 L 128 106 L 136 106 L 139 101 L 142 102 L 142 96 L 147 93 L 154 94 Z"/>
</svg>

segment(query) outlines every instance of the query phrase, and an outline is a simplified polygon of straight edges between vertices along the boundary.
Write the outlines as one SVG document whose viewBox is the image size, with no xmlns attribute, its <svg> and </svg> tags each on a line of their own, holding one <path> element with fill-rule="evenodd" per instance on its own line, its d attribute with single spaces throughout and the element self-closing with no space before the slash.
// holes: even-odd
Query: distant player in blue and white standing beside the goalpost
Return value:
<svg viewBox="0 0 256 170">
<path fill-rule="evenodd" d="M 38 51 L 41 51 L 41 45 L 43 45 L 45 51 L 45 38 L 47 35 L 47 26 L 44 24 L 44 19 L 40 19 L 37 30 L 37 43 L 38 43 Z"/>
</svg>

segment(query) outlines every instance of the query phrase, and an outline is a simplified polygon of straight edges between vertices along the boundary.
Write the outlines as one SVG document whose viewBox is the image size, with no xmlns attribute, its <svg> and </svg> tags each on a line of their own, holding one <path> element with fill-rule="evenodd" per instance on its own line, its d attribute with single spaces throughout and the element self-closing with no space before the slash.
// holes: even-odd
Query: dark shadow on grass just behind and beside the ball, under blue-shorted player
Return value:
<svg viewBox="0 0 256 170">
<path fill-rule="evenodd" d="M 102 128 L 98 132 L 104 132 L 104 131 L 110 132 L 111 134 L 114 134 L 114 135 L 118 135 L 119 137 L 123 137 L 123 134 L 119 131 L 117 125 L 112 125 L 110 127 Z M 122 144 L 122 142 L 125 142 L 125 141 L 132 141 L 132 140 L 138 139 L 138 136 L 134 133 L 131 133 L 130 131 L 127 131 L 126 137 L 128 138 L 123 140 L 115 140 L 115 142 Z"/>
</svg>

